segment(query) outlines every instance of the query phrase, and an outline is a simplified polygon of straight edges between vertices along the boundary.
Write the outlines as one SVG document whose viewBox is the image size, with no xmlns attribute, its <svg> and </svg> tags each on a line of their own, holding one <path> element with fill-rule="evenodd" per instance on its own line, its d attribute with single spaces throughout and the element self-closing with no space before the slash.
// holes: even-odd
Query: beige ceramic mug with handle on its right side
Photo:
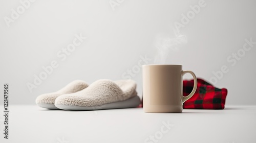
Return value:
<svg viewBox="0 0 256 143">
<path fill-rule="evenodd" d="M 184 74 L 194 78 L 192 92 L 183 96 Z M 197 77 L 182 65 L 143 65 L 143 110 L 151 113 L 182 112 L 183 103 L 193 96 L 197 89 Z"/>
</svg>

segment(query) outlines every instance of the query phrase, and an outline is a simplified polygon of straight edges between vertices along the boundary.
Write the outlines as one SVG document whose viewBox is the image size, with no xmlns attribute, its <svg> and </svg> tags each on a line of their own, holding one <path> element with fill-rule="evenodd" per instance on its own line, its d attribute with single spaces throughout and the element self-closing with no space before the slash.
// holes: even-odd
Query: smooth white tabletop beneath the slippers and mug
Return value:
<svg viewBox="0 0 256 143">
<path fill-rule="evenodd" d="M 63 111 L 36 105 L 12 105 L 9 110 L 9 139 L 1 133 L 0 142 L 256 142 L 256 105 L 182 113 L 144 113 L 142 108 Z M 1 132 L 3 120 L 2 115 Z"/>
</svg>

